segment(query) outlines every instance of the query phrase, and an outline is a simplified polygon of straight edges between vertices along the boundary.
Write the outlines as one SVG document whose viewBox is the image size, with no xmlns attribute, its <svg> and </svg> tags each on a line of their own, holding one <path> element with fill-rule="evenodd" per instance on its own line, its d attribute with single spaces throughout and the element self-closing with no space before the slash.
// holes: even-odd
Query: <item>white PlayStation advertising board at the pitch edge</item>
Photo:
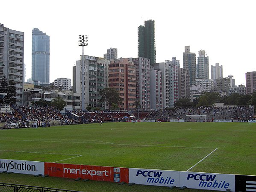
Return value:
<svg viewBox="0 0 256 192">
<path fill-rule="evenodd" d="M 44 162 L 0 159 L 0 171 L 44 175 Z"/>
</svg>

